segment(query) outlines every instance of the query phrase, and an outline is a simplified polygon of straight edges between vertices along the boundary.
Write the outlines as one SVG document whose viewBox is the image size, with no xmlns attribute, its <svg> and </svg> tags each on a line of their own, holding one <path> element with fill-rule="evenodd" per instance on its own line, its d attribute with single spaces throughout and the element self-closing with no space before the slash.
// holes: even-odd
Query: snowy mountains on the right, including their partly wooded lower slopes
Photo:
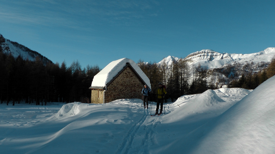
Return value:
<svg viewBox="0 0 275 154">
<path fill-rule="evenodd" d="M 229 84 L 234 79 L 239 79 L 241 75 L 255 73 L 268 66 L 271 59 L 275 57 L 275 47 L 266 48 L 252 54 L 228 54 L 213 50 L 201 50 L 189 54 L 182 60 L 187 61 L 189 69 L 201 66 L 210 70 L 207 82 L 215 83 L 220 87 Z M 160 67 L 166 66 L 167 71 L 171 71 L 173 61 L 179 61 L 180 58 L 168 56 L 158 63 Z M 168 73 L 169 74 L 169 73 Z M 193 74 L 190 73 L 189 83 L 192 83 Z"/>
</svg>

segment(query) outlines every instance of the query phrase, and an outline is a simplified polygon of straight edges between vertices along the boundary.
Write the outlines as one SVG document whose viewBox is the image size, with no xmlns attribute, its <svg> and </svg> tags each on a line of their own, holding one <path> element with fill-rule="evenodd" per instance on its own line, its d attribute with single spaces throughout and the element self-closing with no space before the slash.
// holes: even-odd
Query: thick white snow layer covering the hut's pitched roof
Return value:
<svg viewBox="0 0 275 154">
<path fill-rule="evenodd" d="M 112 61 L 105 68 L 103 68 L 97 75 L 94 76 L 92 85 L 90 88 L 103 89 L 126 65 L 129 63 L 134 71 L 141 77 L 141 79 L 151 88 L 149 78 L 139 68 L 139 66 L 131 59 L 122 58 L 116 61 Z M 94 88 L 98 87 L 98 88 Z"/>
</svg>

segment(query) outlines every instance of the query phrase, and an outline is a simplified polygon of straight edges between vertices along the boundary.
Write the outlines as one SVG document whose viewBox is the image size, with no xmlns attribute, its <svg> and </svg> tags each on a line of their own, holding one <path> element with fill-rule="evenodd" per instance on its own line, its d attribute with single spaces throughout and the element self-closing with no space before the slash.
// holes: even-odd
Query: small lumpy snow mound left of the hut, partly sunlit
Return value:
<svg viewBox="0 0 275 154">
<path fill-rule="evenodd" d="M 81 102 L 74 102 L 64 104 L 61 109 L 57 112 L 57 114 L 50 117 L 50 119 L 58 120 L 66 117 L 71 117 L 80 112 L 79 106 L 82 104 Z"/>
</svg>

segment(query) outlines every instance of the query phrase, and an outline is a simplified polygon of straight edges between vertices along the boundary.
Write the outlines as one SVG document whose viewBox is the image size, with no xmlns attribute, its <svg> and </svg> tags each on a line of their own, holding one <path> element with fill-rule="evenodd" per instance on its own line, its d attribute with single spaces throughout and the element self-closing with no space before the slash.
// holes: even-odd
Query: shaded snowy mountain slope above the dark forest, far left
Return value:
<svg viewBox="0 0 275 154">
<path fill-rule="evenodd" d="M 42 56 L 36 51 L 29 49 L 28 47 L 25 47 L 24 45 L 5 39 L 2 34 L 0 34 L 0 48 L 2 48 L 2 51 L 4 53 L 11 53 L 15 58 L 20 55 L 24 60 L 28 59 L 30 61 L 35 61 L 35 58 L 38 56 L 44 64 L 46 64 L 47 62 L 52 62 L 48 58 Z"/>
</svg>

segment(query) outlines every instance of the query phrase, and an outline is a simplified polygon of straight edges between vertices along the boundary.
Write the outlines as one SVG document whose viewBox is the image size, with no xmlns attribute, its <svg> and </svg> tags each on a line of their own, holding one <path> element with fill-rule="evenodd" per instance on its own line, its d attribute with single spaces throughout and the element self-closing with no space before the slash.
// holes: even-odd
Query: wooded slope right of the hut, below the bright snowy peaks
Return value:
<svg viewBox="0 0 275 154">
<path fill-rule="evenodd" d="M 152 89 L 157 89 L 157 83 L 163 82 L 167 87 L 166 98 L 172 101 L 178 97 L 187 94 L 203 93 L 207 89 L 218 89 L 220 83 L 228 83 L 225 86 L 230 88 L 255 89 L 262 82 L 275 75 L 275 58 L 270 63 L 262 63 L 257 67 L 262 70 L 255 72 L 253 62 L 246 65 L 226 65 L 222 68 L 206 69 L 201 65 L 189 66 L 188 60 L 173 60 L 167 66 L 164 61 L 158 65 L 157 63 L 145 63 L 139 60 L 138 65 L 149 77 Z M 242 74 L 237 73 L 241 70 Z M 223 76 L 229 76 L 225 78 Z M 231 77 L 230 77 L 231 76 Z M 241 77 L 239 77 L 241 76 Z"/>
</svg>

